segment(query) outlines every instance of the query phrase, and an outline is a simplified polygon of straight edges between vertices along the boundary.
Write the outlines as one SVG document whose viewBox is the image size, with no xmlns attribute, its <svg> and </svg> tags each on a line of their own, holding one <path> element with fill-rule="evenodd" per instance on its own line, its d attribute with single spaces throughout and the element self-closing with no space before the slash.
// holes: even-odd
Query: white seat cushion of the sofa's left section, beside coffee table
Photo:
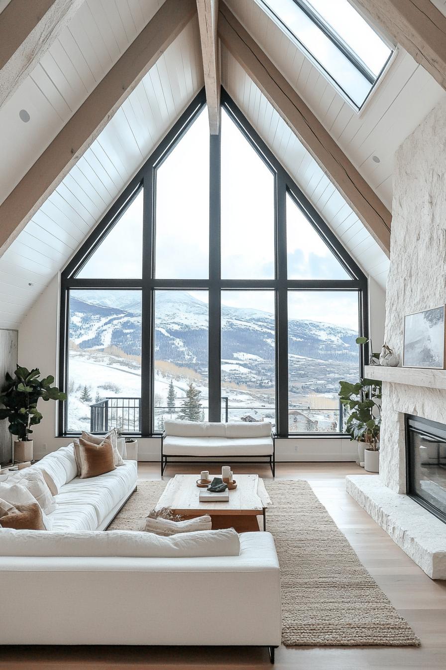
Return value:
<svg viewBox="0 0 446 670">
<path fill-rule="evenodd" d="M 62 486 L 55 501 L 58 505 L 92 505 L 96 511 L 96 528 L 136 485 L 136 478 L 136 461 L 124 461 L 120 468 L 98 477 L 76 477 Z"/>
</svg>

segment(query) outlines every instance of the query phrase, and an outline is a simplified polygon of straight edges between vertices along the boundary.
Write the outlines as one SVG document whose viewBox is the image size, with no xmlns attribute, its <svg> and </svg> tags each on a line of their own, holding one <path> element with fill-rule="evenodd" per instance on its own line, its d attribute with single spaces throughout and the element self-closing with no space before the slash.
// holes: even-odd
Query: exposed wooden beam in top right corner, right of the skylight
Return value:
<svg viewBox="0 0 446 670">
<path fill-rule="evenodd" d="M 354 0 L 446 89 L 446 17 L 430 0 Z"/>
</svg>

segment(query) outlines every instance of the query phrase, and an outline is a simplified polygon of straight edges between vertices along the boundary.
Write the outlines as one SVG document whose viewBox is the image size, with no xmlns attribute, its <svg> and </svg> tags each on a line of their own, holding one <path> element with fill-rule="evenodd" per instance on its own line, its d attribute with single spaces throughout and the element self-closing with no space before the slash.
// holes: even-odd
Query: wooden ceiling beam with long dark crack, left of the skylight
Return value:
<svg viewBox="0 0 446 670">
<path fill-rule="evenodd" d="M 389 255 L 391 213 L 225 3 L 220 3 L 219 38 Z"/>
</svg>

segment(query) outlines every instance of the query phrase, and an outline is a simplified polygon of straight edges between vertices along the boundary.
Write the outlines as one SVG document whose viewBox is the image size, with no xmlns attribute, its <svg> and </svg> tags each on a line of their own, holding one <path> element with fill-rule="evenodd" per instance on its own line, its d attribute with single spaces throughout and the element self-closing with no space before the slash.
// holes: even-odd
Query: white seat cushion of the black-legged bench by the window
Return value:
<svg viewBox="0 0 446 670">
<path fill-rule="evenodd" d="M 168 435 L 162 443 L 165 456 L 270 456 L 273 440 L 264 438 L 179 438 Z"/>
</svg>

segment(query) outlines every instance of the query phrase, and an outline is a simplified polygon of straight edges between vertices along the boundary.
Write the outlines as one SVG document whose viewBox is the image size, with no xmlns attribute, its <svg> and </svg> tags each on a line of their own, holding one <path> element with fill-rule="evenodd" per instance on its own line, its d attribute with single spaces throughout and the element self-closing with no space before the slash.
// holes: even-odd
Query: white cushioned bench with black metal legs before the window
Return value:
<svg viewBox="0 0 446 670">
<path fill-rule="evenodd" d="M 161 475 L 168 458 L 188 457 L 201 458 L 203 461 L 207 458 L 243 458 L 253 462 L 264 462 L 263 458 L 267 458 L 274 476 L 275 440 L 271 423 L 164 421 L 164 432 L 161 436 Z"/>
</svg>

